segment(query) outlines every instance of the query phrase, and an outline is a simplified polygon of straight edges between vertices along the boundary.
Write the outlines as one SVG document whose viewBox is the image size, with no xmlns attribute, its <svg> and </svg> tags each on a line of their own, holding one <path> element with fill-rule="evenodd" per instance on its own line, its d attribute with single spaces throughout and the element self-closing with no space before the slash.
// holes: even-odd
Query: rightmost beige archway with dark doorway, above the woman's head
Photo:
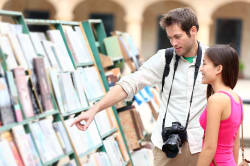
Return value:
<svg viewBox="0 0 250 166">
<path fill-rule="evenodd" d="M 213 13 L 211 43 L 231 44 L 240 54 L 244 75 L 250 77 L 250 3 L 232 2 L 220 5 Z M 223 34 L 220 33 L 223 31 Z M 223 43 L 224 41 L 224 43 Z"/>
</svg>

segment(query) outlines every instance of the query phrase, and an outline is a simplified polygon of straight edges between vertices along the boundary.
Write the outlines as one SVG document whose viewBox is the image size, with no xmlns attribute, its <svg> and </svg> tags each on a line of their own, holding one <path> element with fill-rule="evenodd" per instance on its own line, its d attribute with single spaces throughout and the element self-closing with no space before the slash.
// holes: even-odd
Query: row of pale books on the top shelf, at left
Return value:
<svg viewBox="0 0 250 166">
<path fill-rule="evenodd" d="M 93 63 L 88 42 L 84 39 L 79 26 L 74 29 L 64 26 L 67 44 L 70 46 L 76 65 Z M 22 26 L 0 22 L 0 47 L 7 55 L 7 69 L 17 66 L 33 69 L 33 58 L 44 56 L 46 68 L 56 68 L 60 71 L 73 71 L 74 65 L 70 59 L 61 32 L 56 29 L 42 32 L 22 33 Z"/>
</svg>

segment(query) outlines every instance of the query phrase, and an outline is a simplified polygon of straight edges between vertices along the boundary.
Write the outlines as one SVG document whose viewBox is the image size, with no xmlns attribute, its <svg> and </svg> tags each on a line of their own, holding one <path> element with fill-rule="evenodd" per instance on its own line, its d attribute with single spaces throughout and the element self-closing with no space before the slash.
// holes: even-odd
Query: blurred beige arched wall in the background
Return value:
<svg viewBox="0 0 250 166">
<path fill-rule="evenodd" d="M 90 13 L 114 14 L 115 30 L 128 31 L 145 59 L 156 52 L 158 15 L 183 6 L 195 10 L 201 27 L 198 39 L 208 45 L 215 42 L 217 18 L 242 19 L 241 58 L 244 74 L 250 78 L 250 0 L 0 0 L 0 9 L 45 10 L 51 12 L 51 19 L 85 20 Z"/>
</svg>

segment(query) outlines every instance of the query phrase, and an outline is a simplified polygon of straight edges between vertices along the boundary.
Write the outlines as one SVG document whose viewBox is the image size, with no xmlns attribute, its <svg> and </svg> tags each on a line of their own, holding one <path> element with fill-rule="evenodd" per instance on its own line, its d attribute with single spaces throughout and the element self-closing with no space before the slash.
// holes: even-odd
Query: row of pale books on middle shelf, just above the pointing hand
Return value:
<svg viewBox="0 0 250 166">
<path fill-rule="evenodd" d="M 105 92 L 95 67 L 78 68 L 72 72 L 50 70 L 50 79 L 61 113 L 87 108 Z"/>
</svg>

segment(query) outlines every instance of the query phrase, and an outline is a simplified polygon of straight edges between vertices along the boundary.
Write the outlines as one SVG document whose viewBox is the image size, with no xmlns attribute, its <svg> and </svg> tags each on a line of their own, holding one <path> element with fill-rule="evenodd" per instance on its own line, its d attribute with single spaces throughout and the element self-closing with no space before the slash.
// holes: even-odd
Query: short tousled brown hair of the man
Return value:
<svg viewBox="0 0 250 166">
<path fill-rule="evenodd" d="M 193 26 L 196 27 L 197 31 L 199 30 L 197 16 L 190 8 L 176 8 L 163 15 L 160 20 L 161 27 L 165 30 L 166 27 L 172 24 L 179 24 L 187 35 L 190 35 L 190 29 Z"/>
</svg>

